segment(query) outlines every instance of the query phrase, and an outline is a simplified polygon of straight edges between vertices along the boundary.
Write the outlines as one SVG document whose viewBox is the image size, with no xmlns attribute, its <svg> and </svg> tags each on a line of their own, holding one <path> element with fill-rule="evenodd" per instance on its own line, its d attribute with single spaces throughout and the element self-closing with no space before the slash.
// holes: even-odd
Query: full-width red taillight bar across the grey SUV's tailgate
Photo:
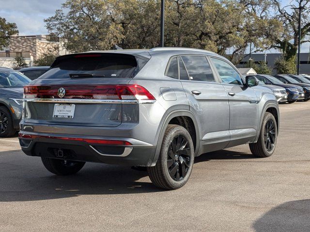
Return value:
<svg viewBox="0 0 310 232">
<path fill-rule="evenodd" d="M 64 88 L 64 95 L 59 89 Z M 154 96 L 139 85 L 102 86 L 26 86 L 24 98 L 28 99 L 102 99 L 102 100 L 155 100 Z"/>
</svg>

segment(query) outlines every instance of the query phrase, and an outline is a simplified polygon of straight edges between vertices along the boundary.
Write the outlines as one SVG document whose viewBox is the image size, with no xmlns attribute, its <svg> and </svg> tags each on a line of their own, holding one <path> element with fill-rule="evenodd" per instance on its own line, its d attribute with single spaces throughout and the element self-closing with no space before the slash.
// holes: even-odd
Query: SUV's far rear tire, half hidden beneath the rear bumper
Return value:
<svg viewBox="0 0 310 232">
<path fill-rule="evenodd" d="M 41 160 L 46 169 L 56 175 L 72 175 L 82 169 L 85 162 L 67 161 L 52 158 L 41 157 Z"/>
</svg>

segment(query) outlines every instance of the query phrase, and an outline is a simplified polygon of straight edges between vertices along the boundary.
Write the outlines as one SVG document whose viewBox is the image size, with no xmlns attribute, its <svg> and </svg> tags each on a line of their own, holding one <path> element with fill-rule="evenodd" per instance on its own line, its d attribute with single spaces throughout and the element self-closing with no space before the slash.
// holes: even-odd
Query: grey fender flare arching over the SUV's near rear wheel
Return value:
<svg viewBox="0 0 310 232">
<path fill-rule="evenodd" d="M 196 120 L 195 116 L 193 115 L 193 113 L 190 112 L 189 110 L 185 110 L 185 109 L 174 110 L 174 111 L 170 112 L 168 114 L 168 116 L 165 117 L 163 123 L 161 123 L 161 127 L 158 127 L 158 128 L 160 128 L 160 132 L 159 132 L 159 136 L 158 136 L 158 139 L 157 139 L 155 155 L 154 155 L 153 162 L 152 162 L 151 166 L 155 166 L 155 164 L 156 164 L 156 162 L 158 160 L 160 149 L 161 149 L 161 145 L 162 145 L 162 141 L 163 141 L 164 134 L 165 134 L 166 128 L 168 126 L 168 123 L 170 122 L 170 120 L 173 117 L 177 117 L 177 116 L 188 116 L 188 117 L 190 117 L 193 120 L 194 125 L 195 125 L 195 131 L 196 131 L 195 157 L 197 156 L 197 153 L 199 151 L 199 146 L 200 146 L 200 135 L 199 135 L 199 127 L 198 127 L 197 120 Z"/>
</svg>

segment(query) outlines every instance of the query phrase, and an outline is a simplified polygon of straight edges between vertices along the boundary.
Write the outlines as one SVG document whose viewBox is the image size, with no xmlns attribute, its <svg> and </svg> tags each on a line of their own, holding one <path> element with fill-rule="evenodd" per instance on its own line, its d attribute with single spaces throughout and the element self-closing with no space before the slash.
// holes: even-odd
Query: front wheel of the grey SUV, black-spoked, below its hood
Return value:
<svg viewBox="0 0 310 232">
<path fill-rule="evenodd" d="M 275 151 L 277 145 L 278 127 L 275 117 L 266 112 L 263 116 L 263 123 L 258 141 L 249 144 L 254 156 L 269 157 Z"/>
</svg>

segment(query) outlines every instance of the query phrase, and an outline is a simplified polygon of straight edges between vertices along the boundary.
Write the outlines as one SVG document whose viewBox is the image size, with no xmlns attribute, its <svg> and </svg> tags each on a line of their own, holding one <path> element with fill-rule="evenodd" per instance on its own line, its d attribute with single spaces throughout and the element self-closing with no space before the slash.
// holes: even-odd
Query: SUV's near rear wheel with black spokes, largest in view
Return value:
<svg viewBox="0 0 310 232">
<path fill-rule="evenodd" d="M 151 181 L 158 188 L 181 188 L 189 179 L 193 165 L 194 145 L 188 131 L 179 125 L 168 125 L 157 163 L 147 168 Z"/>
</svg>

